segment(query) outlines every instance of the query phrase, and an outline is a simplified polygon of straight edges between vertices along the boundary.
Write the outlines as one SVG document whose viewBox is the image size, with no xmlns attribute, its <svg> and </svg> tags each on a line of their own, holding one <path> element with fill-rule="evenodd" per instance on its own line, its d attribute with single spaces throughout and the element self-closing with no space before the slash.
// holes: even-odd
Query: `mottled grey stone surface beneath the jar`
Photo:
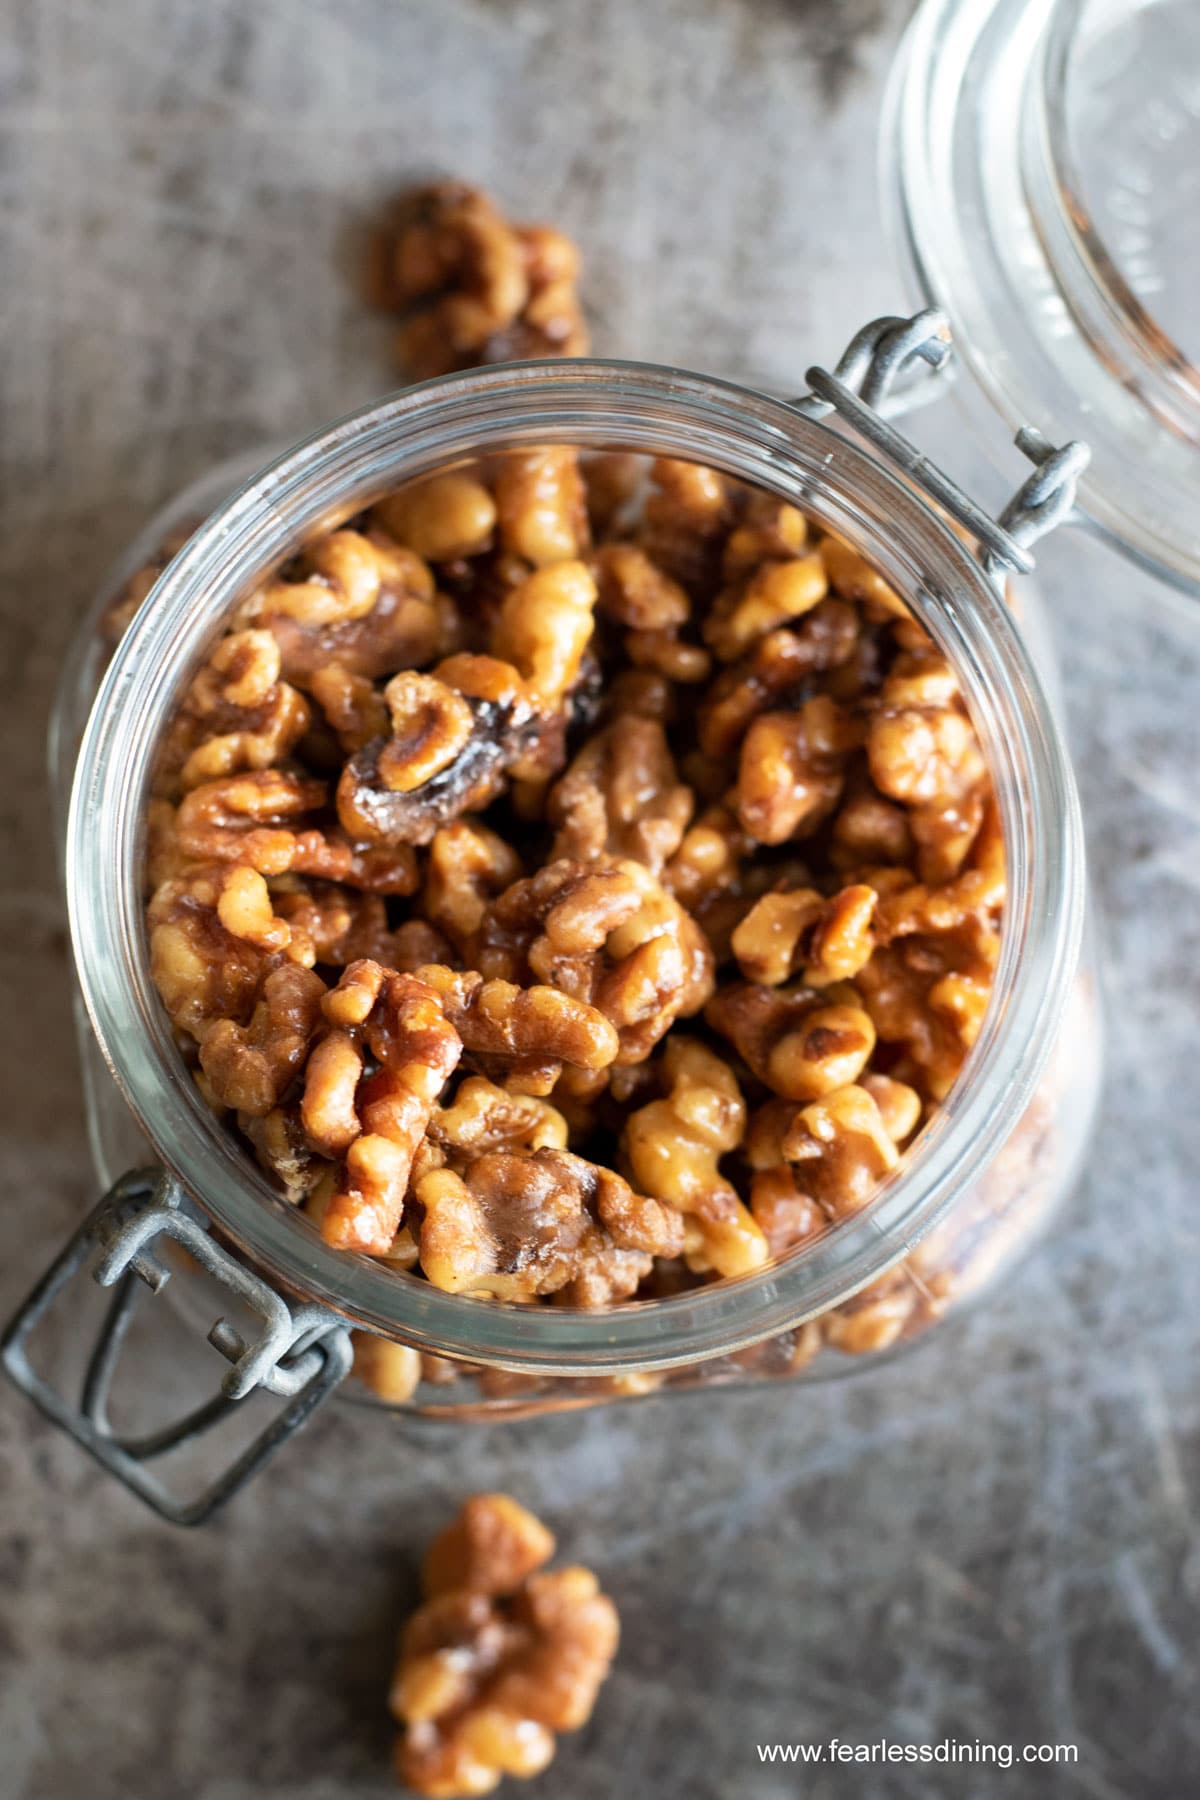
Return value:
<svg viewBox="0 0 1200 1800">
<path fill-rule="evenodd" d="M 349 270 L 430 167 L 578 232 L 601 349 L 795 383 L 903 299 L 874 202 L 903 13 L 2 0 L 4 1309 L 90 1193 L 41 738 L 104 563 L 214 457 L 387 383 Z M 412 1546 L 486 1485 L 624 1618 L 542 1793 L 1196 1791 L 1200 648 L 1078 538 L 1045 569 L 1112 1026 L 1092 1172 L 1045 1253 L 873 1381 L 457 1435 L 338 1408 L 200 1535 L 2 1391 L 4 1800 L 389 1793 Z M 757 1764 L 761 1739 L 831 1735 L 1061 1739 L 1079 1764 Z"/>
</svg>

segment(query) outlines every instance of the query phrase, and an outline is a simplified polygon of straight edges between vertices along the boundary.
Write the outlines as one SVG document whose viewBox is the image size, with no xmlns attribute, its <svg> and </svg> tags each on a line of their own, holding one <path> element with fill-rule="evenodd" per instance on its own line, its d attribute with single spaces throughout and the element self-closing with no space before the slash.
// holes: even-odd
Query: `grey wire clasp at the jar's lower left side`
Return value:
<svg viewBox="0 0 1200 1800">
<path fill-rule="evenodd" d="M 162 1292 L 171 1278 L 171 1269 L 153 1253 L 164 1238 L 175 1240 L 243 1310 L 255 1314 L 259 1330 L 243 1337 L 227 1319 L 218 1319 L 209 1343 L 230 1363 L 219 1393 L 169 1426 L 131 1436 L 113 1426 L 108 1402 L 139 1301 L 146 1289 Z M 29 1337 L 97 1251 L 92 1274 L 101 1287 L 113 1291 L 113 1300 L 88 1357 L 79 1404 L 74 1406 L 32 1366 Z M 237 1262 L 187 1210 L 184 1190 L 166 1168 L 131 1170 L 108 1190 L 0 1337 L 0 1366 L 9 1379 L 47 1418 L 173 1525 L 201 1525 L 212 1517 L 329 1399 L 353 1359 L 342 1319 L 326 1307 L 293 1305 Z M 194 1498 L 180 1498 L 151 1465 L 228 1422 L 255 1390 L 266 1390 L 284 1404 L 209 1487 Z"/>
</svg>

